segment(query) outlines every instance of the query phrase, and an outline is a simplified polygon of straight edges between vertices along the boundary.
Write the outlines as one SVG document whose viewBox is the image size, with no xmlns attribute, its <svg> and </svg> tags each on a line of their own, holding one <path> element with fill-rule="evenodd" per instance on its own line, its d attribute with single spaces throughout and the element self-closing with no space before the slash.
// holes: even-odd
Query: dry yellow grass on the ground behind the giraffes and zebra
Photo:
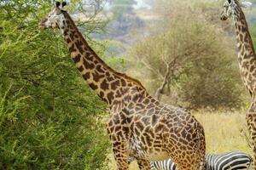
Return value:
<svg viewBox="0 0 256 170">
<path fill-rule="evenodd" d="M 245 151 L 252 154 L 244 133 L 246 128 L 246 111 L 235 112 L 206 112 L 198 111 L 195 117 L 205 128 L 207 139 L 207 153 L 224 153 L 233 150 Z M 116 169 L 113 155 L 109 155 L 108 169 Z M 130 170 L 138 170 L 137 163 L 133 162 Z"/>
</svg>

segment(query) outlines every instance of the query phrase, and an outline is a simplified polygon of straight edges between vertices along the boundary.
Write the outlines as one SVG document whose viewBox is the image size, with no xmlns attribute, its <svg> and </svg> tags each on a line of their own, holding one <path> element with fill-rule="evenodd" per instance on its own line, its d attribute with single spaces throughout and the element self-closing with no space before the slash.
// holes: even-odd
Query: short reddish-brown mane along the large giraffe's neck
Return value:
<svg viewBox="0 0 256 170">
<path fill-rule="evenodd" d="M 92 48 L 90 48 L 90 46 L 89 46 L 88 43 L 85 41 L 83 35 L 82 35 L 81 32 L 79 31 L 78 27 L 75 25 L 74 21 L 72 20 L 72 18 L 70 17 L 70 15 L 67 13 L 67 11 L 61 10 L 61 12 L 62 12 L 62 14 L 65 15 L 65 17 L 67 17 L 68 20 L 71 21 L 71 24 L 74 26 L 75 30 L 79 33 L 79 37 L 81 37 L 82 42 L 84 42 L 84 44 L 87 46 L 87 48 L 90 49 L 90 51 L 92 52 L 92 54 L 94 55 L 94 57 L 96 57 L 96 59 L 98 59 L 98 60 L 102 63 L 102 65 L 104 65 L 109 71 L 112 71 L 113 74 L 115 74 L 116 76 L 118 76 L 118 77 L 123 77 L 123 78 L 125 78 L 125 79 L 128 79 L 129 81 L 134 82 L 135 84 L 137 84 L 140 88 L 145 89 L 145 88 L 143 87 L 143 84 L 142 84 L 140 81 L 138 81 L 137 79 L 132 78 L 132 77 L 129 77 L 129 76 L 127 76 L 125 73 L 120 73 L 120 72 L 118 72 L 118 71 L 115 71 L 115 70 L 113 70 L 113 68 L 111 68 L 110 66 L 108 66 L 108 65 L 95 53 L 95 51 L 94 51 Z"/>
</svg>

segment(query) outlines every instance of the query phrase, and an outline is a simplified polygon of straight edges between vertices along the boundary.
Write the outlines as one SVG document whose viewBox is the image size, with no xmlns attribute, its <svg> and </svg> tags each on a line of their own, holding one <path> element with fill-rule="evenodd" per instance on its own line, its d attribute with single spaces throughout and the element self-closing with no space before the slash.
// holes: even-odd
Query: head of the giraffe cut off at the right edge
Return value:
<svg viewBox="0 0 256 170">
<path fill-rule="evenodd" d="M 236 8 L 242 7 L 242 8 L 247 8 L 251 6 L 252 3 L 249 2 L 239 2 L 239 0 L 226 0 L 224 2 L 224 8 L 220 16 L 220 20 L 227 20 L 232 16 L 232 14 L 236 15 L 238 13 L 238 10 Z"/>
</svg>

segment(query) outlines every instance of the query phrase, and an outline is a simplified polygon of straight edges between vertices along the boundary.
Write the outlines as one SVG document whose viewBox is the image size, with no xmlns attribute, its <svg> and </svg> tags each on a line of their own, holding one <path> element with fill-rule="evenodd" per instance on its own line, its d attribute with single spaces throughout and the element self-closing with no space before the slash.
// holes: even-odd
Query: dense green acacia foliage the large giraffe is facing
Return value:
<svg viewBox="0 0 256 170">
<path fill-rule="evenodd" d="M 105 104 L 81 80 L 59 32 L 38 30 L 50 8 L 43 0 L 0 3 L 0 169 L 96 169 L 105 161 Z"/>
</svg>

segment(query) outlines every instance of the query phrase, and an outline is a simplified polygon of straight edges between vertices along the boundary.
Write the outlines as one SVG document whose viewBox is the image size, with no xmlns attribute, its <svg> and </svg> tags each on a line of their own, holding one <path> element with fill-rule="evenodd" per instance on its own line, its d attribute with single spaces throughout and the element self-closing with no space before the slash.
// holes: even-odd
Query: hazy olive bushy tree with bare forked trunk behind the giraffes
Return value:
<svg viewBox="0 0 256 170">
<path fill-rule="evenodd" d="M 207 22 L 200 6 L 192 10 L 173 2 L 164 5 L 166 14 L 160 10 L 164 22 L 160 20 L 151 36 L 131 48 L 135 61 L 143 65 L 139 68 L 149 72 L 146 83 L 152 93 L 159 99 L 166 94 L 165 102 L 194 109 L 240 107 L 243 86 L 233 64 L 235 44 L 219 33 L 224 31 L 221 26 Z"/>
</svg>

